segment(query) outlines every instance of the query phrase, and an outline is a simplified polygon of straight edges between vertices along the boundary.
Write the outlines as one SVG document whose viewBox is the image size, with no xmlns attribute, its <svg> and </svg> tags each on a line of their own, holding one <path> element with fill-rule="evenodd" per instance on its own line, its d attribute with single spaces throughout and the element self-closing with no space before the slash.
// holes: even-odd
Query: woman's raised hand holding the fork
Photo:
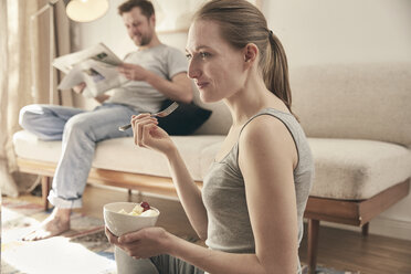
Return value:
<svg viewBox="0 0 411 274">
<path fill-rule="evenodd" d="M 157 126 L 157 118 L 151 117 L 150 114 L 133 115 L 130 123 L 134 143 L 137 146 L 151 148 L 166 155 L 175 148 L 170 136 Z"/>
</svg>

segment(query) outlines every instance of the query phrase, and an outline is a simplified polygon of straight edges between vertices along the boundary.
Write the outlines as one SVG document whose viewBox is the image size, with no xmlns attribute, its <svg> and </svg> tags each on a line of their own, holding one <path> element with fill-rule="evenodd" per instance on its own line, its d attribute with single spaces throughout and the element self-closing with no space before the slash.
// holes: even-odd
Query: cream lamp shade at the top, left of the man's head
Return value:
<svg viewBox="0 0 411 274">
<path fill-rule="evenodd" d="M 72 0 L 66 7 L 68 18 L 76 22 L 91 22 L 108 10 L 108 0 Z"/>
</svg>

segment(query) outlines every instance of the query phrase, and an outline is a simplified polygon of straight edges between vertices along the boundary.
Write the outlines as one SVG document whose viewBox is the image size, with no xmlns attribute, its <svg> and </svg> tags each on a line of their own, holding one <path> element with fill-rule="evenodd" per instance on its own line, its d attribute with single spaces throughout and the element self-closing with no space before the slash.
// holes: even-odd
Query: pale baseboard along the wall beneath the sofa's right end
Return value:
<svg viewBox="0 0 411 274">
<path fill-rule="evenodd" d="M 348 224 L 322 221 L 320 225 L 361 232 L 361 228 Z M 369 233 L 411 241 L 411 222 L 377 217 L 370 222 Z"/>
</svg>

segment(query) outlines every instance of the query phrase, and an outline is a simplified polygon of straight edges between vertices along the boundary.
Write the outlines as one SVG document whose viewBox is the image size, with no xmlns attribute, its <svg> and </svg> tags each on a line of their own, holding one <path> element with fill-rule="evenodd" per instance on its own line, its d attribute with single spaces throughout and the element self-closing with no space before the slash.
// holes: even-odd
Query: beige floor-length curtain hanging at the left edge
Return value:
<svg viewBox="0 0 411 274">
<path fill-rule="evenodd" d="M 17 197 L 39 182 L 18 171 L 12 136 L 21 130 L 18 120 L 24 105 L 49 103 L 49 11 L 31 20 L 46 0 L 0 0 L 0 183 L 3 194 Z M 70 28 L 64 3 L 54 7 L 55 55 L 70 52 Z M 33 45 L 34 54 L 31 55 Z M 34 60 L 32 74 L 31 60 Z M 54 70 L 55 71 L 55 70 Z M 54 84 L 60 75 L 55 72 Z M 56 88 L 54 88 L 56 91 Z M 73 104 L 71 92 L 54 92 L 54 104 Z"/>
</svg>

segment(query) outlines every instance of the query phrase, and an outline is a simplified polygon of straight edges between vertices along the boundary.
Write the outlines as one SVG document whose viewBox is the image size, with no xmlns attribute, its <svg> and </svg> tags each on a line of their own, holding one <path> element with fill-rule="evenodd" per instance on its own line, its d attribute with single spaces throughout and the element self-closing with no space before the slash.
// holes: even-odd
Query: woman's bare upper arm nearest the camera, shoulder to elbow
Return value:
<svg viewBox="0 0 411 274">
<path fill-rule="evenodd" d="M 267 271 L 295 273 L 298 224 L 293 170 L 298 161 L 294 139 L 272 116 L 254 118 L 240 137 L 239 165 L 259 262 Z"/>
</svg>

